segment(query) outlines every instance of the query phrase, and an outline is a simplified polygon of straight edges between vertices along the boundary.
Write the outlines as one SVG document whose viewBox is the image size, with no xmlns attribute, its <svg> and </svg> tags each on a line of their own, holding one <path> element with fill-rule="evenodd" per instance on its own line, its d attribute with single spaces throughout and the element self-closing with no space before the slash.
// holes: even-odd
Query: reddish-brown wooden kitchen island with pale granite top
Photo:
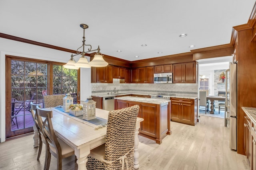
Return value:
<svg viewBox="0 0 256 170">
<path fill-rule="evenodd" d="M 115 109 L 122 109 L 136 104 L 140 106 L 138 117 L 144 119 L 140 123 L 139 135 L 161 144 L 166 135 L 171 135 L 170 100 L 132 96 L 114 98 Z"/>
</svg>

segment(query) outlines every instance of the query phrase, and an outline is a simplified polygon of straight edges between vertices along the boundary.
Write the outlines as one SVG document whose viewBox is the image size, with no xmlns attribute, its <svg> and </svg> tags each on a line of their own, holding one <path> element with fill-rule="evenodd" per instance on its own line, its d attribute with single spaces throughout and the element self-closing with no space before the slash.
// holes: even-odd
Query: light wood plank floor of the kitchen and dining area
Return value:
<svg viewBox="0 0 256 170">
<path fill-rule="evenodd" d="M 244 155 L 229 149 L 229 128 L 224 119 L 201 116 L 196 126 L 171 122 L 172 135 L 158 145 L 139 136 L 139 170 L 249 170 Z M 42 170 L 44 145 L 40 160 L 33 147 L 33 136 L 0 143 L 0 170 Z M 76 170 L 75 157 L 63 159 L 65 170 Z M 50 170 L 56 169 L 52 156 Z"/>
</svg>

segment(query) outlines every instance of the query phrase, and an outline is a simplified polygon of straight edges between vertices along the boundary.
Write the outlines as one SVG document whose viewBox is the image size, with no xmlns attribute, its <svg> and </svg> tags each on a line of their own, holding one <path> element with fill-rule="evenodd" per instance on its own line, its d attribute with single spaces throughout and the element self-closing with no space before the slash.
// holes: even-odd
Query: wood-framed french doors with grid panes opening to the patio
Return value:
<svg viewBox="0 0 256 170">
<path fill-rule="evenodd" d="M 43 106 L 43 95 L 72 93 L 77 100 L 80 70 L 64 63 L 6 55 L 6 139 L 30 133 L 30 102 Z"/>
</svg>

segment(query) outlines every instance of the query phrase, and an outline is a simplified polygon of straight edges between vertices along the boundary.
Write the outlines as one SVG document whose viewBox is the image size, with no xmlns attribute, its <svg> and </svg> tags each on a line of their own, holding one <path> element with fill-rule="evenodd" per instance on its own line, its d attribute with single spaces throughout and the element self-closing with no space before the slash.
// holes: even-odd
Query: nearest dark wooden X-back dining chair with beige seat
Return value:
<svg viewBox="0 0 256 170">
<path fill-rule="evenodd" d="M 50 167 L 51 155 L 57 158 L 57 169 L 62 170 L 62 158 L 67 158 L 74 155 L 72 149 L 67 143 L 57 138 L 52 126 L 52 110 L 41 109 L 36 107 L 36 117 L 39 119 L 39 127 L 42 128 L 43 135 L 46 139 L 46 166 L 48 170 Z"/>
</svg>

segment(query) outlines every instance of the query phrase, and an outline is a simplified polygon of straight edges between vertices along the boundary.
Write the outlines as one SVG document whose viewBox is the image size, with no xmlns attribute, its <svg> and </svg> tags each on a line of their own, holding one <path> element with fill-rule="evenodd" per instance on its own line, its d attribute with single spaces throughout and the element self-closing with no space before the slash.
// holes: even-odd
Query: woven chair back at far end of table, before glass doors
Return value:
<svg viewBox="0 0 256 170">
<path fill-rule="evenodd" d="M 44 98 L 44 108 L 63 106 L 63 98 L 66 94 L 46 95 Z"/>
</svg>

